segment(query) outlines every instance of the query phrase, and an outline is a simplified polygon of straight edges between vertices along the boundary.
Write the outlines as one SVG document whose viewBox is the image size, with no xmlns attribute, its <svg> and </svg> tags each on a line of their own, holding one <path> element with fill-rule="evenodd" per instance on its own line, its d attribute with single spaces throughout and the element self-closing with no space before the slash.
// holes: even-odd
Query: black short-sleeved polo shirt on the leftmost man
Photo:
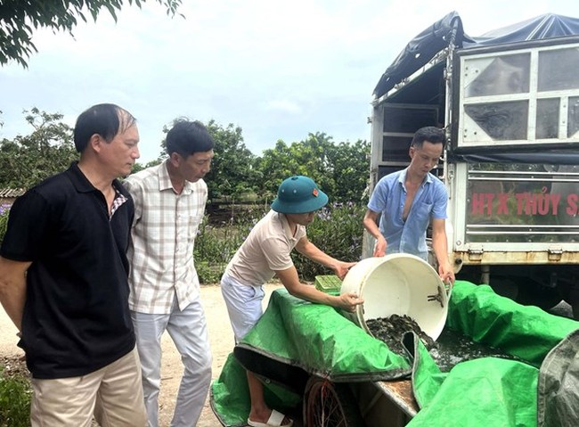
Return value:
<svg viewBox="0 0 579 427">
<path fill-rule="evenodd" d="M 135 205 L 109 218 L 103 194 L 73 163 L 20 196 L 0 249 L 31 261 L 19 346 L 35 378 L 89 374 L 135 347 L 126 248 Z"/>
</svg>

